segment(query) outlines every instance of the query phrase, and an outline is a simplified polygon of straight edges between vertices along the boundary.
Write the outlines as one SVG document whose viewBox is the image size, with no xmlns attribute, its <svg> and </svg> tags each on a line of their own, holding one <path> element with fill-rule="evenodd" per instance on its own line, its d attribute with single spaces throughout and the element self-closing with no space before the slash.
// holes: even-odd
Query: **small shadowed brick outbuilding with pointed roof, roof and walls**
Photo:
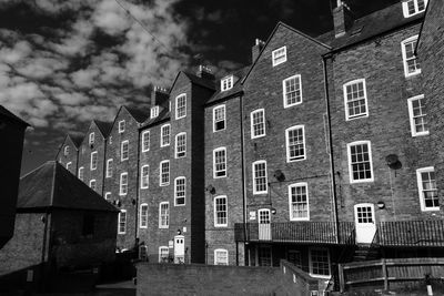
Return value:
<svg viewBox="0 0 444 296">
<path fill-rule="evenodd" d="M 60 269 L 114 261 L 118 213 L 58 162 L 24 175 L 14 234 L 0 251 L 0 284 L 42 282 Z"/>
</svg>

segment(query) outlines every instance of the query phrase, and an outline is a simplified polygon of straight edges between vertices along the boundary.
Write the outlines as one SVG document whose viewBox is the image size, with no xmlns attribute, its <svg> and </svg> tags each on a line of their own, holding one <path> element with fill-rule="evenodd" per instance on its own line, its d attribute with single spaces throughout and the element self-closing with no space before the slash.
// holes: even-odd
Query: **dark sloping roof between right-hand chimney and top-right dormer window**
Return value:
<svg viewBox="0 0 444 296">
<path fill-rule="evenodd" d="M 408 23 L 420 21 L 424 13 L 404 18 L 402 3 L 395 3 L 385 9 L 377 10 L 353 21 L 352 27 L 344 35 L 335 38 L 334 30 L 326 32 L 316 39 L 332 47 L 333 51 L 353 45 L 370 38 L 389 32 Z"/>
</svg>

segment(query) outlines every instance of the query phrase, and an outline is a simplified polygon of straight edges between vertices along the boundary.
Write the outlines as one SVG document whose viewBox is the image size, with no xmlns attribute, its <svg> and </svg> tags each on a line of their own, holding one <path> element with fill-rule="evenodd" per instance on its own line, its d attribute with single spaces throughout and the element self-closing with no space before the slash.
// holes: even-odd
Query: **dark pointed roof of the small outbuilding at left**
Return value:
<svg viewBox="0 0 444 296">
<path fill-rule="evenodd" d="M 114 206 L 54 161 L 44 163 L 20 178 L 17 208 L 118 212 Z"/>
</svg>

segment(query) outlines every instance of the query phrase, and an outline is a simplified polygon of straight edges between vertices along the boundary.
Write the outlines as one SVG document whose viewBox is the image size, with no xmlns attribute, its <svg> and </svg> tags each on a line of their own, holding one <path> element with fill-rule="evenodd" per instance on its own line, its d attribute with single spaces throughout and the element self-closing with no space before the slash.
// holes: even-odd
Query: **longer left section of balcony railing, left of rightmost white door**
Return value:
<svg viewBox="0 0 444 296">
<path fill-rule="evenodd" d="M 334 222 L 282 222 L 271 224 L 246 223 L 245 226 L 246 237 L 244 235 L 243 224 L 235 224 L 235 241 L 306 244 L 337 243 Z M 339 244 L 354 244 L 353 228 L 353 222 L 340 222 Z M 351 237 L 353 237 L 353 239 L 351 239 Z"/>
</svg>

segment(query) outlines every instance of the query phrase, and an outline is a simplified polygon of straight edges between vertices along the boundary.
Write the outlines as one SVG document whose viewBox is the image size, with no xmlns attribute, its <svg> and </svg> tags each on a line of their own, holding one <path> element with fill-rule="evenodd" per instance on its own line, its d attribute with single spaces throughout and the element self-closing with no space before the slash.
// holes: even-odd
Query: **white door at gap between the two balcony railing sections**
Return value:
<svg viewBox="0 0 444 296">
<path fill-rule="evenodd" d="M 373 204 L 356 204 L 354 206 L 354 223 L 356 244 L 371 244 L 376 233 Z"/>
</svg>

